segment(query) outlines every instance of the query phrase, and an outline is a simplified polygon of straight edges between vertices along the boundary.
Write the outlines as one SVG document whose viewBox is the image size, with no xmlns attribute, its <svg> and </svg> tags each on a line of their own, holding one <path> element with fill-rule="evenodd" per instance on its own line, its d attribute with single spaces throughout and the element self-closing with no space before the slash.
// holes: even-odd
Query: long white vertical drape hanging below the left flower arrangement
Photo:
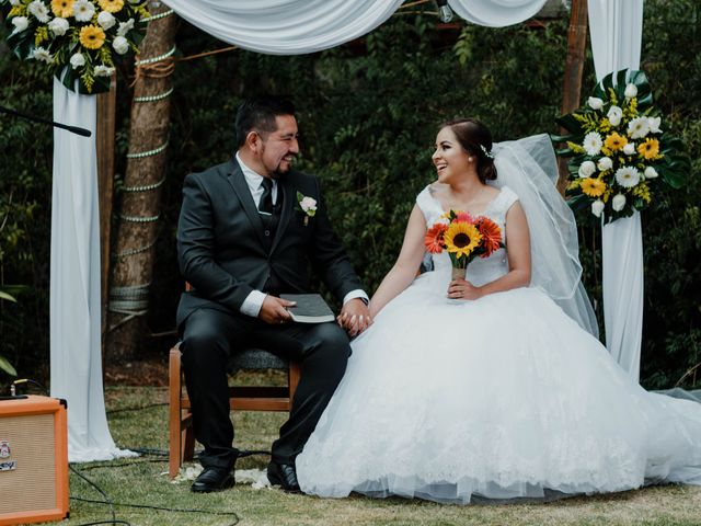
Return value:
<svg viewBox="0 0 701 526">
<path fill-rule="evenodd" d="M 68 401 L 69 461 L 129 455 L 110 435 L 102 390 L 100 216 L 95 150 L 96 101 L 54 80 L 54 119 L 90 129 L 56 128 L 51 196 L 51 397 Z"/>
</svg>

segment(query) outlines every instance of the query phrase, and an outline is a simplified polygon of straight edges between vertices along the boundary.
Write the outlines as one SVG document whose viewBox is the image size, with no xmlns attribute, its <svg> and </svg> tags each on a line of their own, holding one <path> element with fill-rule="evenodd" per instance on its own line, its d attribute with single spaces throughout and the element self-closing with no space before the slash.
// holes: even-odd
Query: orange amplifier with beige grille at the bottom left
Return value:
<svg viewBox="0 0 701 526">
<path fill-rule="evenodd" d="M 0 400 L 0 525 L 68 516 L 66 402 Z"/>
</svg>

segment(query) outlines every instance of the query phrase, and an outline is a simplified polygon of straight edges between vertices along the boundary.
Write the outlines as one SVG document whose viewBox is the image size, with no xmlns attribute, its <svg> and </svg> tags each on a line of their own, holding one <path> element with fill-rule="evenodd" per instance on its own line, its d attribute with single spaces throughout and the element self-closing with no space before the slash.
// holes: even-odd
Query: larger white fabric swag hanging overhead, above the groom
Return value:
<svg viewBox="0 0 701 526">
<path fill-rule="evenodd" d="M 200 30 L 243 49 L 301 55 L 369 33 L 403 0 L 168 0 Z"/>
</svg>

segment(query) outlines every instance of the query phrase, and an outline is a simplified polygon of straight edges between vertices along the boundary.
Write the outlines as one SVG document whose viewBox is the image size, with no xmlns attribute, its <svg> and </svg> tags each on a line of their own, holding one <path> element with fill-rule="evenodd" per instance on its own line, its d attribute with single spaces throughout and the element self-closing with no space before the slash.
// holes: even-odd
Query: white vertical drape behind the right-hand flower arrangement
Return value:
<svg viewBox="0 0 701 526">
<path fill-rule="evenodd" d="M 588 0 L 598 80 L 640 68 L 643 0 Z M 643 232 L 640 214 L 601 229 L 606 346 L 623 369 L 640 378 L 643 339 Z"/>
</svg>

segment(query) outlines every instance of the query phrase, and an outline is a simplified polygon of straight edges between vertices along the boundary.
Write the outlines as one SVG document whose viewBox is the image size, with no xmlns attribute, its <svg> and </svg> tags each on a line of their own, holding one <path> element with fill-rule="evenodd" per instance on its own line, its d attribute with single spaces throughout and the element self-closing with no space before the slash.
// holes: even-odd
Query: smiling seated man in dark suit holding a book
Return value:
<svg viewBox="0 0 701 526">
<path fill-rule="evenodd" d="M 255 346 L 302 365 L 267 469 L 271 483 L 298 491 L 295 457 L 345 371 L 346 332 L 359 333 L 370 322 L 367 295 L 331 228 L 319 182 L 291 168 L 299 153 L 291 103 L 269 96 L 243 102 L 235 132 L 233 159 L 185 178 L 177 227 L 181 272 L 193 287 L 181 298 L 177 327 L 195 438 L 205 447 L 192 490 L 234 483 L 227 361 Z M 279 295 L 309 291 L 310 267 L 343 301 L 338 324 L 291 322 L 292 304 Z"/>
</svg>

